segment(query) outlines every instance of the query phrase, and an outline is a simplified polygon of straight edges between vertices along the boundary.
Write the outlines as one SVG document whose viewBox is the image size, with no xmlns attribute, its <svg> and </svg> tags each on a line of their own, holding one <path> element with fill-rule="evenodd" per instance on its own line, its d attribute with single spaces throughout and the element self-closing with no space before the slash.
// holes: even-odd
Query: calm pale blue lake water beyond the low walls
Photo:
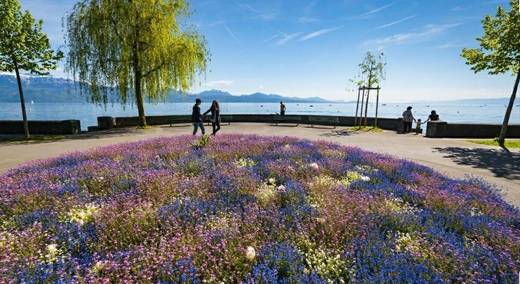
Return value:
<svg viewBox="0 0 520 284">
<path fill-rule="evenodd" d="M 325 103 L 325 104 L 296 104 L 288 103 L 287 114 L 320 114 L 320 115 L 345 115 L 352 116 L 356 110 L 356 104 L 352 103 Z M 408 104 L 383 104 L 379 107 L 380 117 L 400 117 Z M 432 109 L 436 110 L 441 120 L 448 122 L 467 123 L 502 123 L 506 106 L 502 104 L 471 104 L 471 103 L 428 103 L 412 104 L 416 118 L 425 120 Z M 162 103 L 147 104 L 147 115 L 179 115 L 190 114 L 191 103 Z M 209 104 L 202 104 L 202 109 L 209 108 Z M 223 103 L 222 114 L 274 114 L 278 112 L 278 103 Z M 369 105 L 369 116 L 374 114 L 374 106 Z M 27 104 L 27 112 L 30 120 L 63 120 L 79 119 L 81 127 L 97 124 L 98 116 L 136 116 L 137 109 L 133 106 L 122 107 L 120 105 L 95 106 L 86 103 L 34 103 Z M 0 120 L 21 119 L 20 105 L 18 103 L 0 102 Z M 520 108 L 515 106 L 511 115 L 511 123 L 520 124 Z"/>
</svg>

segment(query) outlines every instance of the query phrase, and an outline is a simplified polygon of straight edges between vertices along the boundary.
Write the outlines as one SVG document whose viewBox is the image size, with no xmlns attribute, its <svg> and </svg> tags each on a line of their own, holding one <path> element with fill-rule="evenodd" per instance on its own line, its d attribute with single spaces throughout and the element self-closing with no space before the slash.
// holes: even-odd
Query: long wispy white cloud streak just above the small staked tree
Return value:
<svg viewBox="0 0 520 284">
<path fill-rule="evenodd" d="M 442 34 L 447 30 L 459 25 L 460 24 L 427 25 L 422 30 L 417 32 L 398 33 L 384 38 L 368 40 L 364 42 L 364 45 L 385 46 L 405 44 L 417 40 L 425 40 L 432 36 Z"/>
</svg>

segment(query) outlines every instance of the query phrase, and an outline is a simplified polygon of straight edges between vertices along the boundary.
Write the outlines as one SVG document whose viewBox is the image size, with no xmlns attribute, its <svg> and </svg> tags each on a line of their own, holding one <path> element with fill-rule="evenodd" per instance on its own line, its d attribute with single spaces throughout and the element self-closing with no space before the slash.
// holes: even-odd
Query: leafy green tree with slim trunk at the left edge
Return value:
<svg viewBox="0 0 520 284">
<path fill-rule="evenodd" d="M 26 138 L 30 133 L 20 72 L 47 75 L 63 57 L 61 52 L 51 50 L 42 24 L 29 11 L 22 12 L 18 0 L 0 1 L 0 71 L 16 74 Z"/>
</svg>

